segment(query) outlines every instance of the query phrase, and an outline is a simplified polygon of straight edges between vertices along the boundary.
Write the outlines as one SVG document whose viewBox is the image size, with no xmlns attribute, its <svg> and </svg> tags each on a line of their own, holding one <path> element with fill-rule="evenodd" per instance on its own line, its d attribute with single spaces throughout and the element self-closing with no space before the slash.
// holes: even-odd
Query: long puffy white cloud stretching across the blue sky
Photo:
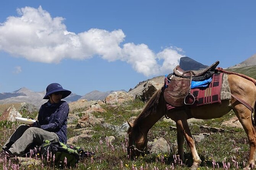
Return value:
<svg viewBox="0 0 256 170">
<path fill-rule="evenodd" d="M 155 53 L 143 43 L 123 43 L 126 35 L 121 29 L 93 28 L 75 34 L 66 29 L 64 18 L 52 18 L 41 6 L 17 12 L 19 16 L 9 16 L 0 23 L 0 50 L 29 61 L 58 63 L 64 58 L 100 56 L 110 62 L 127 62 L 135 71 L 150 76 L 172 72 L 183 56 L 180 48 Z"/>
</svg>

